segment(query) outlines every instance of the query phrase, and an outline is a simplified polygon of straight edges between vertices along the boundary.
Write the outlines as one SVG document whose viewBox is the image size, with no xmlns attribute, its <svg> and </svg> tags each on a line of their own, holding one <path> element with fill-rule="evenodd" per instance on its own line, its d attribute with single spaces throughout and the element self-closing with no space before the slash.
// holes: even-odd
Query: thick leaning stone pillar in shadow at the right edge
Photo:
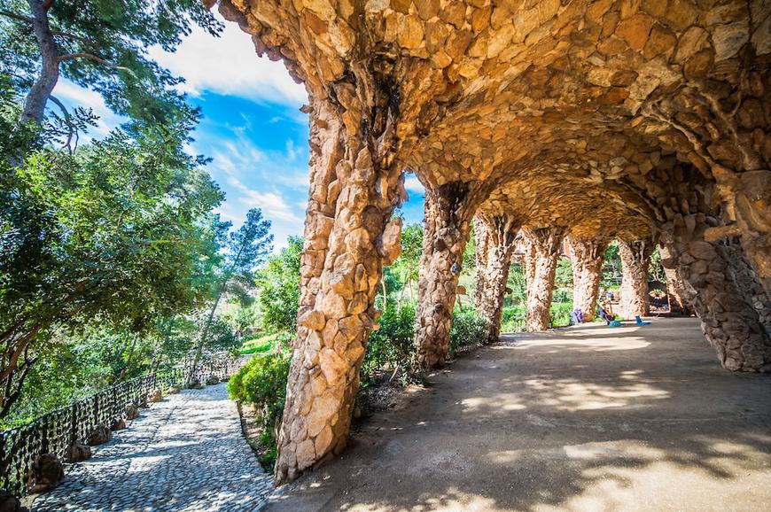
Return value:
<svg viewBox="0 0 771 512">
<path fill-rule="evenodd" d="M 655 174 L 665 183 L 661 169 Z M 684 299 L 701 320 L 724 368 L 771 370 L 771 339 L 750 299 L 762 295 L 748 292 L 751 287 L 742 282 L 747 267 L 737 254 L 744 253 L 744 244 L 730 243 L 728 237 L 713 240 L 715 233 L 730 228 L 720 212 L 724 206 L 713 200 L 714 183 L 689 166 L 675 166 L 666 177 L 667 195 L 658 199 L 666 246 L 662 264 L 680 275 Z M 759 287 L 759 280 L 755 283 Z"/>
</svg>

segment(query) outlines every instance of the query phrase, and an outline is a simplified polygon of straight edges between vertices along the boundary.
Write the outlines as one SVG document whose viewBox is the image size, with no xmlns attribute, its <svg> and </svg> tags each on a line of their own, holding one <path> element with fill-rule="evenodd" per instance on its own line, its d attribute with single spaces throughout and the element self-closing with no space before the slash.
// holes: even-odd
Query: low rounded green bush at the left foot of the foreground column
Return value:
<svg viewBox="0 0 771 512">
<path fill-rule="evenodd" d="M 251 404 L 267 431 L 284 412 L 289 358 L 281 354 L 255 356 L 230 378 L 230 398 Z"/>
</svg>

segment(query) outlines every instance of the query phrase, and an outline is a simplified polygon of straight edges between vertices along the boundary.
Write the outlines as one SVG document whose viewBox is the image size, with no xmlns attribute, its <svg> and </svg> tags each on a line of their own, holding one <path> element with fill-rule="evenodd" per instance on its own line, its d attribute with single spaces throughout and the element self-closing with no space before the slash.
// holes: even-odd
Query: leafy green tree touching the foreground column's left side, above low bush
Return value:
<svg viewBox="0 0 771 512">
<path fill-rule="evenodd" d="M 302 245 L 302 237 L 289 237 L 287 246 L 270 256 L 267 265 L 256 275 L 262 325 L 266 330 L 295 330 L 300 301 Z"/>
</svg>

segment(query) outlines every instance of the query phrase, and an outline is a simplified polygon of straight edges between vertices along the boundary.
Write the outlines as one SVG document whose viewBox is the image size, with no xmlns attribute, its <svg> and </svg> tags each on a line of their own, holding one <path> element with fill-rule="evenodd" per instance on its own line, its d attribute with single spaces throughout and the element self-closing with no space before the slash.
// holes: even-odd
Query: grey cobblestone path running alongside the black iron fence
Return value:
<svg viewBox="0 0 771 512">
<path fill-rule="evenodd" d="M 33 512 L 259 510 L 271 491 L 241 434 L 226 384 L 170 395 L 128 429 L 66 467 L 67 478 Z"/>
</svg>

